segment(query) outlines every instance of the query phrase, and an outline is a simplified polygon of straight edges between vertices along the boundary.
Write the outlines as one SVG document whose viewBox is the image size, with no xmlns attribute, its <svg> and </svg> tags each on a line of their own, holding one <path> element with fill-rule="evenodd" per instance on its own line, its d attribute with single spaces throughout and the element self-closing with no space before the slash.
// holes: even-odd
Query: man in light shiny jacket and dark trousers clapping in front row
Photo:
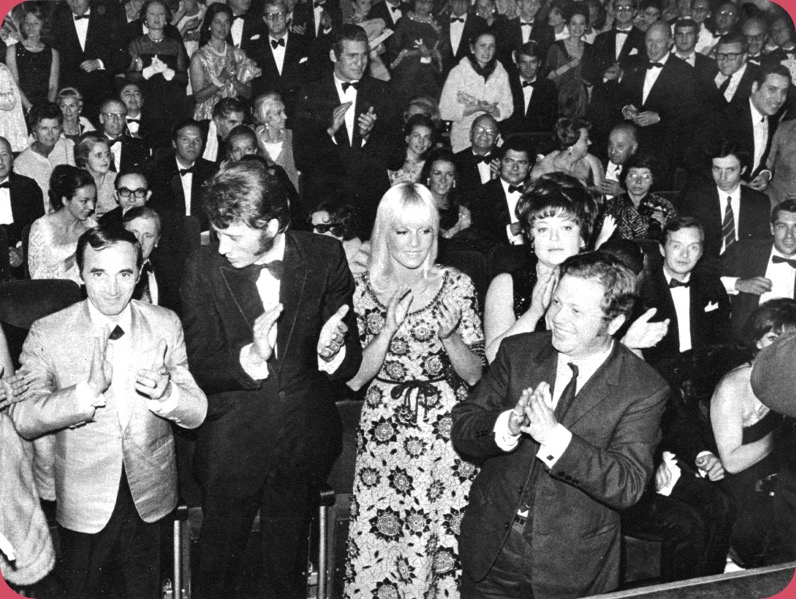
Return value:
<svg viewBox="0 0 796 599">
<path fill-rule="evenodd" d="M 36 321 L 20 362 L 50 381 L 15 404 L 26 438 L 56 433 L 56 495 L 67 596 L 100 596 L 119 562 L 125 597 L 160 590 L 159 520 L 177 504 L 169 421 L 196 428 L 207 398 L 188 372 L 173 312 L 131 302 L 141 247 L 128 231 L 84 233 L 77 262 L 88 299 Z"/>
</svg>

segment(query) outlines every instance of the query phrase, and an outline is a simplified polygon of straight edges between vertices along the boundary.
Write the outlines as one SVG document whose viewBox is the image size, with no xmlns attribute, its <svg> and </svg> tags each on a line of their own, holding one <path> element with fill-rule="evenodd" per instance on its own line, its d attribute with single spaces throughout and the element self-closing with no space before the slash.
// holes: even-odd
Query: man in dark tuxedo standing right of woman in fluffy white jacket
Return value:
<svg viewBox="0 0 796 599">
<path fill-rule="evenodd" d="M 520 46 L 514 53 L 517 65 L 509 75 L 514 112 L 500 123 L 504 137 L 512 133 L 551 132 L 558 120 L 558 88 L 539 76 L 542 53 L 536 42 Z"/>
</svg>

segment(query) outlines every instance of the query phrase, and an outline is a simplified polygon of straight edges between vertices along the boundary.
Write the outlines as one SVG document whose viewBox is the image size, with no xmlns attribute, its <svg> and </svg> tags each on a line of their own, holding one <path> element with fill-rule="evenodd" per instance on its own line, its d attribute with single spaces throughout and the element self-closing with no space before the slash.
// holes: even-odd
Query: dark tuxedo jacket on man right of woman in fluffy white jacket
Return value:
<svg viewBox="0 0 796 599">
<path fill-rule="evenodd" d="M 522 94 L 522 81 L 517 72 L 509 76 L 514 112 L 500 123 L 504 136 L 512 133 L 551 132 L 558 120 L 558 88 L 550 79 L 536 78 L 528 110 Z"/>
</svg>

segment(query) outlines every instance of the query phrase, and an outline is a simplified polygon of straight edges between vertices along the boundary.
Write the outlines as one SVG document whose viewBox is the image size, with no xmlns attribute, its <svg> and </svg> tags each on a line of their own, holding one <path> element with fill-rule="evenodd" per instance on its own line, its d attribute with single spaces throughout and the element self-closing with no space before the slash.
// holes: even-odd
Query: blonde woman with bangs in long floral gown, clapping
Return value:
<svg viewBox="0 0 796 599">
<path fill-rule="evenodd" d="M 431 193 L 402 183 L 382 198 L 354 309 L 365 348 L 349 385 L 367 383 L 357 433 L 346 597 L 458 597 L 459 524 L 476 468 L 450 441 L 451 409 L 481 377 L 472 281 L 434 266 Z"/>
</svg>

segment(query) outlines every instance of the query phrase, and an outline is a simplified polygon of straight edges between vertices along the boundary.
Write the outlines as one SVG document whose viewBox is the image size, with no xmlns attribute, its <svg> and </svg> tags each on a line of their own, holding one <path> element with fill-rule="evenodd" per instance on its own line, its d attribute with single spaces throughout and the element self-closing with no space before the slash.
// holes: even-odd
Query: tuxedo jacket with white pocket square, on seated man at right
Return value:
<svg viewBox="0 0 796 599">
<path fill-rule="evenodd" d="M 730 300 L 719 277 L 699 270 L 691 273 L 690 331 L 691 348 L 718 345 L 730 339 Z M 644 307 L 657 308 L 655 320 L 669 319 L 666 336 L 655 346 L 644 350 L 650 364 L 680 355 L 680 335 L 674 301 L 663 273 L 657 268 L 644 281 L 639 292 Z"/>
</svg>

